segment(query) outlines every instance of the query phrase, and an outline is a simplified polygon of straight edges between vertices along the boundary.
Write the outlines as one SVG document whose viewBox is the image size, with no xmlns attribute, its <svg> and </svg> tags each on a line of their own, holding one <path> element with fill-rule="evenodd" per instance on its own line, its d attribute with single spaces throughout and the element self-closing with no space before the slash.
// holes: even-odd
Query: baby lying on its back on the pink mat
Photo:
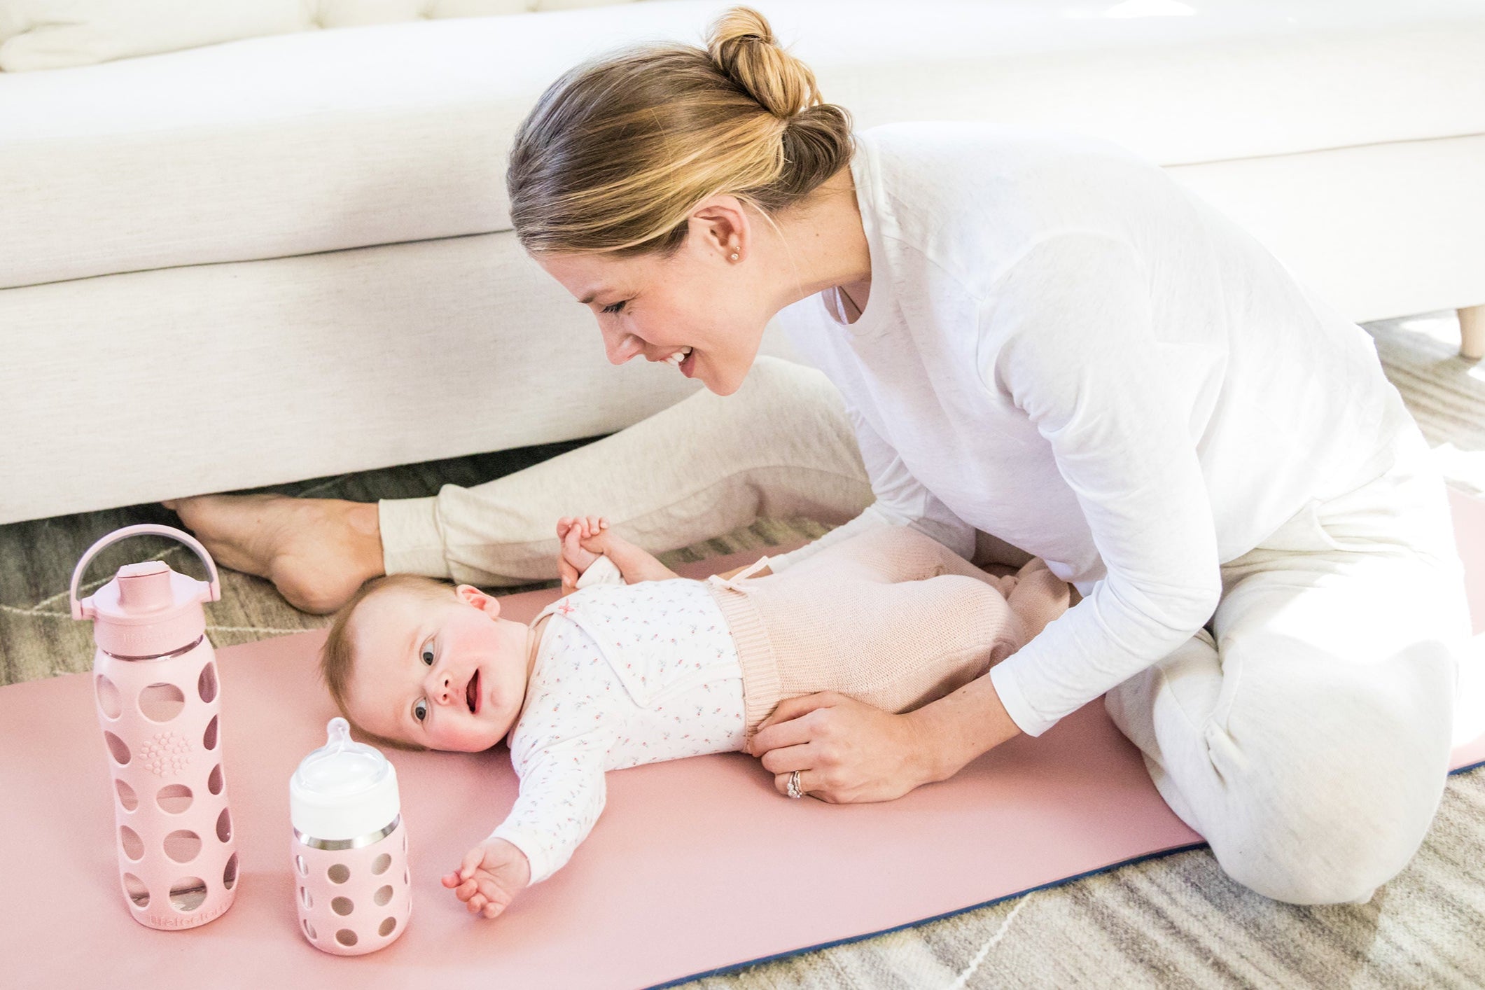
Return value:
<svg viewBox="0 0 1485 990">
<path fill-rule="evenodd" d="M 823 690 L 910 711 L 1068 607 L 1041 560 L 996 576 L 907 527 L 777 574 L 750 576 L 765 557 L 707 580 L 676 576 L 597 517 L 564 518 L 557 536 L 564 595 L 530 625 L 471 585 L 395 574 L 362 586 L 324 646 L 331 695 L 374 742 L 509 742 L 515 804 L 443 877 L 486 917 L 567 862 L 603 810 L 607 770 L 745 751 L 780 701 Z"/>
</svg>

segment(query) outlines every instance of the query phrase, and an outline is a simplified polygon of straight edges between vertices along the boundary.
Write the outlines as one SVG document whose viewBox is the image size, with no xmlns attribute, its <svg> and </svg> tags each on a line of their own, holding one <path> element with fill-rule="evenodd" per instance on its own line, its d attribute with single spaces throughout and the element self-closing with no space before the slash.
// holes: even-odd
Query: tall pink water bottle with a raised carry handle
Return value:
<svg viewBox="0 0 1485 990">
<path fill-rule="evenodd" d="M 200 557 L 209 582 L 165 561 L 126 564 L 91 598 L 77 582 L 105 546 L 146 533 Z M 217 659 L 203 601 L 221 598 L 217 566 L 187 533 L 128 525 L 73 571 L 73 619 L 92 619 L 94 695 L 113 778 L 114 843 L 125 904 L 148 928 L 196 928 L 232 907 L 238 855 L 221 769 Z"/>
</svg>

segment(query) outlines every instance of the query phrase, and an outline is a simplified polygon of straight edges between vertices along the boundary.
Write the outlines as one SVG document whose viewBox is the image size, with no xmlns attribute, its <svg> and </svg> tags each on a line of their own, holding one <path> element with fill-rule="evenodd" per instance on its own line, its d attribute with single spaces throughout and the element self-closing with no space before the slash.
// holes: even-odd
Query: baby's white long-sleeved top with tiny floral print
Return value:
<svg viewBox="0 0 1485 990">
<path fill-rule="evenodd" d="M 616 582 L 616 583 L 613 583 Z M 490 837 L 526 853 L 532 883 L 598 819 L 606 770 L 742 747 L 742 668 L 705 583 L 622 583 L 606 557 L 549 614 L 511 733 L 521 778 Z"/>
</svg>

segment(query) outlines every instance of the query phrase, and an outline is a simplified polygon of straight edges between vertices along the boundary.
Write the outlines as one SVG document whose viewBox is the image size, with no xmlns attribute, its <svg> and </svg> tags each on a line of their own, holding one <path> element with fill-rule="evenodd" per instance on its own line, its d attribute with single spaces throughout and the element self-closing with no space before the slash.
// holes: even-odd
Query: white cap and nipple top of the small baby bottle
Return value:
<svg viewBox="0 0 1485 990">
<path fill-rule="evenodd" d="M 345 718 L 325 726 L 325 745 L 288 781 L 288 815 L 304 839 L 371 839 L 396 821 L 396 769 L 380 750 L 355 742 Z"/>
</svg>

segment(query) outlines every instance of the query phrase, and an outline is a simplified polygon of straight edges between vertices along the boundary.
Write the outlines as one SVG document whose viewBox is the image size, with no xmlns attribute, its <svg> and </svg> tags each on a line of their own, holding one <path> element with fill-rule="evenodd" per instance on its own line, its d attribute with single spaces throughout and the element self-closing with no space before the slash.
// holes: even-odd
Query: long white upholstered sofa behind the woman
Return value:
<svg viewBox="0 0 1485 990">
<path fill-rule="evenodd" d="M 726 6 L 0 73 L 0 522 L 588 436 L 696 387 L 606 364 L 520 251 L 503 162 L 573 62 Z M 860 128 L 1099 134 L 1356 321 L 1485 303 L 1478 0 L 753 6 Z"/>
</svg>

